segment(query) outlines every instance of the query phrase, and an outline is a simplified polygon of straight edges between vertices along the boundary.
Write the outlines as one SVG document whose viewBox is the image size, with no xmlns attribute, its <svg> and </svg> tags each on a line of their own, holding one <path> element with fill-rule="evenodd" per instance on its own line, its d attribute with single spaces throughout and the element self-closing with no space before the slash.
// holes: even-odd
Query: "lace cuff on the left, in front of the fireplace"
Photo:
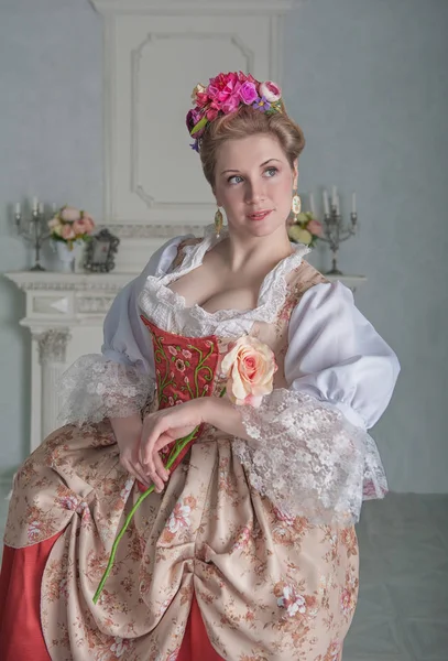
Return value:
<svg viewBox="0 0 448 661">
<path fill-rule="evenodd" d="M 57 387 L 58 423 L 81 425 L 140 412 L 153 394 L 154 380 L 136 367 L 87 354 L 63 373 Z"/>
</svg>

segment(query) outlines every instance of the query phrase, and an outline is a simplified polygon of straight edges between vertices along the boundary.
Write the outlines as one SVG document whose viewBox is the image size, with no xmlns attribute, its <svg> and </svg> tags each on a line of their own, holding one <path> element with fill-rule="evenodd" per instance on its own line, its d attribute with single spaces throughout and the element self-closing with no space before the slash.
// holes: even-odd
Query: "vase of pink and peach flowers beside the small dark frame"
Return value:
<svg viewBox="0 0 448 661">
<path fill-rule="evenodd" d="M 63 206 L 51 220 L 51 239 L 57 252 L 61 270 L 66 273 L 75 271 L 84 245 L 89 241 L 95 229 L 95 223 L 87 212 L 68 205 Z"/>
</svg>

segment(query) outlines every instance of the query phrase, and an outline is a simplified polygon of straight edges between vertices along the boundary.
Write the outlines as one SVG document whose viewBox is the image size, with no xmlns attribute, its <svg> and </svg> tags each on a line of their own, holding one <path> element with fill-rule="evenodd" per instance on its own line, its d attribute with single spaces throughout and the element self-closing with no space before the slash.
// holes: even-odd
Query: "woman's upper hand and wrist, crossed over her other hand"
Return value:
<svg viewBox="0 0 448 661">
<path fill-rule="evenodd" d="M 145 416 L 140 440 L 139 462 L 146 476 L 154 483 L 156 491 L 163 490 L 164 481 L 170 477 L 159 452 L 173 441 L 187 436 L 196 426 L 206 422 L 209 399 L 194 399 Z"/>
</svg>

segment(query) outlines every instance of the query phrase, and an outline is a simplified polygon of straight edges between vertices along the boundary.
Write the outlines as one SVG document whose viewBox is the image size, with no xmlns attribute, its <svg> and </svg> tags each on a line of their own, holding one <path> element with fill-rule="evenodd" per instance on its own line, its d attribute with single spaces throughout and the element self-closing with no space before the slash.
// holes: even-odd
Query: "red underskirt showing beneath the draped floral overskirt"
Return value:
<svg viewBox="0 0 448 661">
<path fill-rule="evenodd" d="M 0 576 L 0 650 L 2 661 L 51 661 L 41 628 L 41 583 L 58 533 L 33 546 L 4 546 Z M 193 595 L 187 627 L 176 661 L 222 661 L 207 636 Z"/>
</svg>

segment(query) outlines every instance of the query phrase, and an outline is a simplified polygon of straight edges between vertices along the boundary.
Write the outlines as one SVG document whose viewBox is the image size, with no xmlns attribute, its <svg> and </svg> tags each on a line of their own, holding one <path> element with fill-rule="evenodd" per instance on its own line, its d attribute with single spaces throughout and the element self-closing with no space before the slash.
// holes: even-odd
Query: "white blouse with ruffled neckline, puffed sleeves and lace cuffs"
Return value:
<svg viewBox="0 0 448 661">
<path fill-rule="evenodd" d="M 200 266 L 225 236 L 217 239 L 212 226 L 207 228 L 200 243 L 185 248 L 174 271 L 177 247 L 189 237 L 167 241 L 117 295 L 105 321 L 102 354 L 83 356 L 63 376 L 61 421 L 99 422 L 141 410 L 154 389 L 153 350 L 142 312 L 161 328 L 189 337 L 239 337 L 256 321 L 275 319 L 287 294 L 285 275 L 309 251 L 303 245 L 292 243 L 293 254 L 266 274 L 254 310 L 208 313 L 199 305 L 187 307 L 167 288 Z M 387 490 L 367 430 L 389 404 L 398 360 L 340 282 L 305 292 L 292 313 L 288 340 L 288 389 L 274 390 L 260 409 L 239 407 L 256 443 L 236 438 L 233 451 L 251 484 L 284 511 L 321 522 L 332 520 L 335 512 L 347 521 L 349 512 L 356 521 L 362 499 L 381 498 Z"/>
</svg>

